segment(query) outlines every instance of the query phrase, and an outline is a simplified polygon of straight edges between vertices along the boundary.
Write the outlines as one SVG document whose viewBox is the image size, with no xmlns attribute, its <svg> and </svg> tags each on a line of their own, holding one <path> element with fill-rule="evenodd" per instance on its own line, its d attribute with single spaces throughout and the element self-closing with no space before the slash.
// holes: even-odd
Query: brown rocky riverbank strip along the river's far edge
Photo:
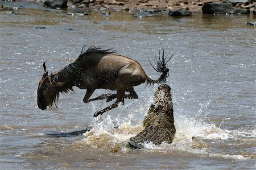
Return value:
<svg viewBox="0 0 256 170">
<path fill-rule="evenodd" d="M 9 0 L 15 1 L 15 0 Z M 192 13 L 202 13 L 205 3 L 231 3 L 236 9 L 255 11 L 256 0 L 21 0 L 38 2 L 51 8 L 88 8 L 94 10 L 151 10 L 166 11 L 187 9 Z"/>
</svg>

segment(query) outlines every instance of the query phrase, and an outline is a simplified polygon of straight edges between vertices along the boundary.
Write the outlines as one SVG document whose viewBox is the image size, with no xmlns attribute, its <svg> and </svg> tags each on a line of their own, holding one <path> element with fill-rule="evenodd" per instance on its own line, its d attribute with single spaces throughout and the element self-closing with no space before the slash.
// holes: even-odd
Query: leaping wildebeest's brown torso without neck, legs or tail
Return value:
<svg viewBox="0 0 256 170">
<path fill-rule="evenodd" d="M 77 65 L 82 68 L 83 78 L 77 85 L 81 89 L 97 86 L 117 90 L 117 85 L 135 86 L 146 81 L 146 74 L 137 61 L 124 56 L 90 53 L 85 59 L 77 60 Z"/>
</svg>

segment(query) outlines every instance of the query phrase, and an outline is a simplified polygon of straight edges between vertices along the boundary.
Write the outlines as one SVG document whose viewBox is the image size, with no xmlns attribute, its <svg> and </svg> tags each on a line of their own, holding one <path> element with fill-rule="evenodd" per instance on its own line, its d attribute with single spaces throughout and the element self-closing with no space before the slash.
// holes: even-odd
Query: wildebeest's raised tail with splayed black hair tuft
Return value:
<svg viewBox="0 0 256 170">
<path fill-rule="evenodd" d="M 174 56 L 174 55 L 172 55 L 172 56 Z M 161 52 L 159 49 L 158 57 L 156 57 L 156 55 L 155 55 L 155 58 L 154 58 L 156 68 L 151 63 L 151 61 L 148 59 L 148 61 L 150 62 L 151 66 L 155 69 L 155 71 L 158 73 L 161 73 L 161 74 L 157 80 L 152 80 L 151 78 L 147 77 L 147 85 L 154 84 L 154 83 L 166 82 L 166 78 L 169 76 L 169 69 L 167 68 L 166 65 L 167 65 L 168 61 L 171 60 L 172 56 L 170 58 L 168 58 L 168 55 L 166 57 L 164 57 L 164 49 L 163 49 L 162 55 L 161 55 Z"/>
</svg>

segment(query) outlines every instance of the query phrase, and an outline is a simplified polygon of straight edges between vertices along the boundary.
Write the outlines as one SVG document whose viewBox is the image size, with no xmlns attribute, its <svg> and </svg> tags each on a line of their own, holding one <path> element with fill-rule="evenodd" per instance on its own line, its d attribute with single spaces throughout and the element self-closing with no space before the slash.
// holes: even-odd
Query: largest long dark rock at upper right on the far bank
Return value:
<svg viewBox="0 0 256 170">
<path fill-rule="evenodd" d="M 205 14 L 248 14 L 246 9 L 235 9 L 232 3 L 205 3 L 202 7 Z"/>
</svg>

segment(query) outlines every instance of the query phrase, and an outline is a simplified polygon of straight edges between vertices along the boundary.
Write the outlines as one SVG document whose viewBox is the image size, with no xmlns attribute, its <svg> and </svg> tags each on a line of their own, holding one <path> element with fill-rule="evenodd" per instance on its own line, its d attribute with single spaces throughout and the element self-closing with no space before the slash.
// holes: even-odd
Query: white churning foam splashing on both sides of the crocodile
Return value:
<svg viewBox="0 0 256 170">
<path fill-rule="evenodd" d="M 132 103 L 130 103 L 132 105 Z M 144 143 L 143 146 L 146 150 L 161 150 L 163 152 L 168 151 L 182 151 L 189 152 L 191 154 L 205 155 L 206 157 L 224 157 L 226 159 L 238 159 L 243 160 L 247 159 L 242 155 L 229 155 L 222 153 L 214 153 L 212 146 L 218 146 L 220 142 L 228 142 L 229 139 L 238 139 L 238 138 L 253 138 L 255 137 L 254 131 L 244 131 L 244 130 L 224 130 L 220 127 L 217 127 L 214 123 L 207 123 L 199 119 L 197 114 L 205 114 L 205 110 L 209 102 L 201 105 L 201 109 L 195 114 L 195 117 L 189 117 L 185 113 L 179 113 L 180 110 L 176 111 L 175 117 L 175 127 L 176 134 L 172 144 L 163 142 L 159 146 L 156 146 L 154 143 Z M 149 105 L 148 105 L 149 106 Z M 148 108 L 147 106 L 147 108 Z M 125 109 L 123 106 L 119 111 Z M 143 111 L 146 112 L 143 106 Z M 131 107 L 134 109 L 134 107 Z M 137 111 L 141 110 L 140 108 L 135 108 Z M 118 115 L 107 115 L 106 118 L 102 119 L 102 122 L 97 123 L 95 119 L 93 128 L 90 132 L 84 134 L 85 138 L 83 142 L 90 144 L 92 147 L 121 147 L 123 152 L 126 152 L 126 143 L 131 137 L 137 135 L 142 129 L 142 121 L 137 120 L 134 123 L 135 115 L 133 114 L 123 114 Z M 138 119 L 138 117 L 136 117 Z M 118 128 L 115 128 L 118 126 Z M 96 142 L 99 140 L 99 142 Z"/>
</svg>

